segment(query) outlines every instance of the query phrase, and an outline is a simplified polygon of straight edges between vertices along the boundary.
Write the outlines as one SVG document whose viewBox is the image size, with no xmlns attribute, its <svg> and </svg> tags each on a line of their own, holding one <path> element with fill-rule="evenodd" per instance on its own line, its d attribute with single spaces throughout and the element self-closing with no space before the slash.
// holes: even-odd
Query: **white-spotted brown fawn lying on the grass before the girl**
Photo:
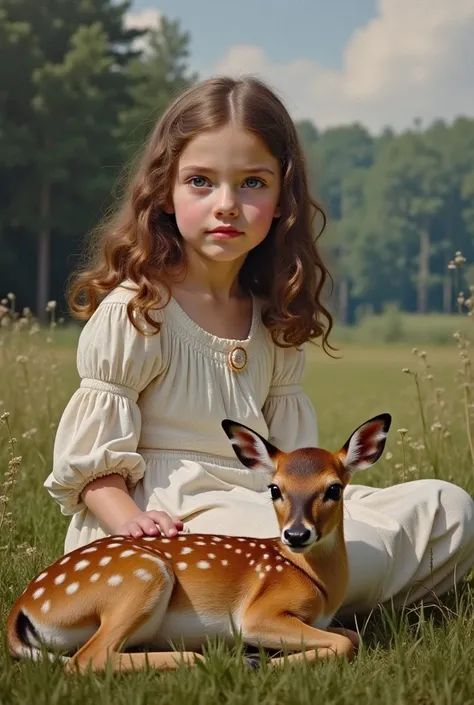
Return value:
<svg viewBox="0 0 474 705">
<path fill-rule="evenodd" d="M 72 653 L 64 660 L 79 670 L 103 669 L 109 659 L 115 670 L 175 669 L 202 659 L 194 650 L 208 636 L 232 643 L 239 630 L 245 644 L 299 652 L 289 659 L 352 656 L 344 630 L 328 630 L 348 584 L 343 490 L 354 471 L 380 458 L 390 423 L 389 414 L 366 421 L 337 453 L 284 453 L 223 421 L 243 465 L 268 473 L 280 536 L 94 541 L 46 568 L 17 599 L 7 622 L 10 653 Z M 190 651 L 170 651 L 170 641 Z M 123 651 L 144 646 L 150 651 Z"/>
</svg>

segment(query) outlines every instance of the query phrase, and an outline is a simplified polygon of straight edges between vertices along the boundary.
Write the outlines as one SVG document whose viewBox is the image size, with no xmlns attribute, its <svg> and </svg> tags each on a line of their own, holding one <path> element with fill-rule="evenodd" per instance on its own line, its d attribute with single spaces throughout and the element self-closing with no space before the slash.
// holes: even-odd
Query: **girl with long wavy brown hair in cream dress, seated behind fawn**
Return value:
<svg viewBox="0 0 474 705">
<path fill-rule="evenodd" d="M 231 418 L 283 450 L 318 442 L 304 343 L 328 346 L 328 272 L 295 127 L 263 83 L 212 78 L 157 124 L 93 262 L 71 290 L 89 319 L 82 379 L 45 482 L 72 515 L 65 549 L 183 528 L 278 534 L 267 480 L 243 468 Z M 440 594 L 474 562 L 474 505 L 420 480 L 346 489 L 345 612 Z"/>
</svg>

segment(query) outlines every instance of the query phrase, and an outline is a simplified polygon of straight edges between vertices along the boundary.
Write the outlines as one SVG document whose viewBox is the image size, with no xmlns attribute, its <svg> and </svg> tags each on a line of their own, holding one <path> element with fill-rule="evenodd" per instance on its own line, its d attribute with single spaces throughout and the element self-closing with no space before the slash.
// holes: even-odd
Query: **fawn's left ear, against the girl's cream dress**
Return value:
<svg viewBox="0 0 474 705">
<path fill-rule="evenodd" d="M 222 428 L 231 440 L 234 453 L 245 467 L 275 472 L 275 463 L 281 452 L 278 448 L 236 421 L 224 419 Z"/>
</svg>

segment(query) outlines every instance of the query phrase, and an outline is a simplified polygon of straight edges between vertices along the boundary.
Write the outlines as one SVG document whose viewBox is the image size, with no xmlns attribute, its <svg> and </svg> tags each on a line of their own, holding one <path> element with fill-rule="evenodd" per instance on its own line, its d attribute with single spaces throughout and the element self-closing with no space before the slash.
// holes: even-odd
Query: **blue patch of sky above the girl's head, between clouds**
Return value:
<svg viewBox="0 0 474 705">
<path fill-rule="evenodd" d="M 191 33 L 192 63 L 203 71 L 233 44 L 259 45 L 275 61 L 305 56 L 340 68 L 344 45 L 375 6 L 376 0 L 135 0 L 132 8 L 179 18 Z"/>
</svg>

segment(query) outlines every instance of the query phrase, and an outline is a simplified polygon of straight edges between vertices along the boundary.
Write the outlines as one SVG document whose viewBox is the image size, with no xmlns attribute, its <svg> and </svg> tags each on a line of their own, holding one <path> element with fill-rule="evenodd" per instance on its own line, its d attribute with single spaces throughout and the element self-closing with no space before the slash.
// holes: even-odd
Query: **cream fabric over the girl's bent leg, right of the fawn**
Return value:
<svg viewBox="0 0 474 705">
<path fill-rule="evenodd" d="M 349 590 L 341 614 L 440 596 L 474 565 L 474 502 L 442 480 L 345 490 Z"/>
</svg>

